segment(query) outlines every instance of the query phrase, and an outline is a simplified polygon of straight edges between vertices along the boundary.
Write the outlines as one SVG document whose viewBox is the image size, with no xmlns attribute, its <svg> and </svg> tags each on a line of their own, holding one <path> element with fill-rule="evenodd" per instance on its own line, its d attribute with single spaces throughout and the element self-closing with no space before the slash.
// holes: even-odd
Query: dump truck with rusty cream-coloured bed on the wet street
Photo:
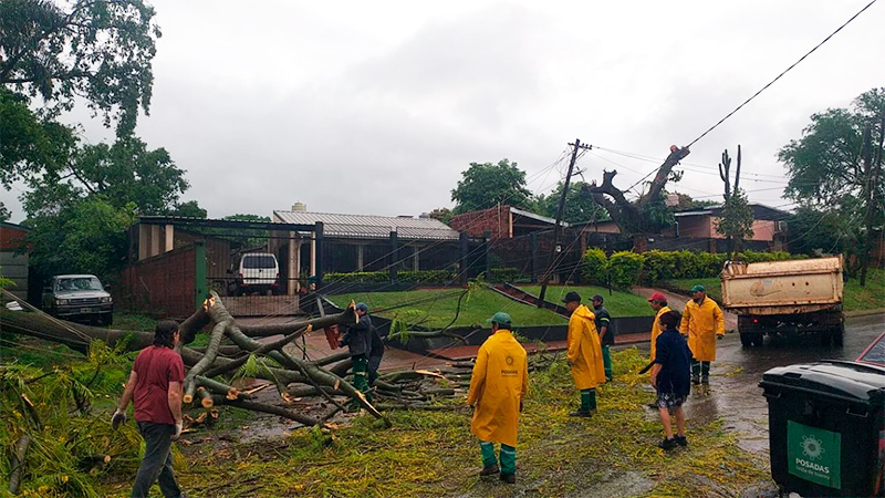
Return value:
<svg viewBox="0 0 885 498">
<path fill-rule="evenodd" d="M 738 315 L 743 346 L 764 335 L 815 334 L 824 345 L 842 345 L 842 257 L 726 261 L 722 308 Z"/>
</svg>

